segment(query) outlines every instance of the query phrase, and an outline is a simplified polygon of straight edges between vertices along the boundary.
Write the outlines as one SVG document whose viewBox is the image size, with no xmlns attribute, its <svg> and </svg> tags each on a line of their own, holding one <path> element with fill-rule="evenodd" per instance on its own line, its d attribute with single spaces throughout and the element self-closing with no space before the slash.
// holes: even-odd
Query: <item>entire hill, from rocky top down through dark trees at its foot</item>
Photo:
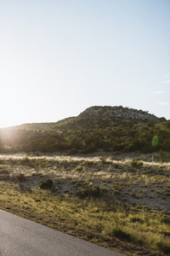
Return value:
<svg viewBox="0 0 170 256">
<path fill-rule="evenodd" d="M 170 151 L 169 120 L 122 106 L 90 107 L 77 117 L 14 126 L 1 129 L 0 134 L 2 153 Z"/>
</svg>

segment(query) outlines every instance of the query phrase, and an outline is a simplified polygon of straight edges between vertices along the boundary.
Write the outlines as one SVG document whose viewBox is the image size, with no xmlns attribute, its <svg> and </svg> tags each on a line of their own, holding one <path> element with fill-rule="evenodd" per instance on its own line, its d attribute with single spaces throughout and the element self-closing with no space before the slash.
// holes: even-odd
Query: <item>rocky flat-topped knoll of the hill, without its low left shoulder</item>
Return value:
<svg viewBox="0 0 170 256">
<path fill-rule="evenodd" d="M 142 110 L 120 107 L 90 107 L 69 122 L 54 126 L 64 130 L 89 130 L 96 128 L 114 127 L 122 124 L 158 123 L 165 121 Z"/>
</svg>

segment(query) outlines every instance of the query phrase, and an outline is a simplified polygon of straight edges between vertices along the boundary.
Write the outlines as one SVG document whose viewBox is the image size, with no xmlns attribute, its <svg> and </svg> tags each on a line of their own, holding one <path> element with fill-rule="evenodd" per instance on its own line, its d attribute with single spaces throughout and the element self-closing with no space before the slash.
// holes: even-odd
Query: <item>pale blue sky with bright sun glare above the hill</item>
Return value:
<svg viewBox="0 0 170 256">
<path fill-rule="evenodd" d="M 92 106 L 170 119 L 169 0 L 0 0 L 0 127 Z"/>
</svg>

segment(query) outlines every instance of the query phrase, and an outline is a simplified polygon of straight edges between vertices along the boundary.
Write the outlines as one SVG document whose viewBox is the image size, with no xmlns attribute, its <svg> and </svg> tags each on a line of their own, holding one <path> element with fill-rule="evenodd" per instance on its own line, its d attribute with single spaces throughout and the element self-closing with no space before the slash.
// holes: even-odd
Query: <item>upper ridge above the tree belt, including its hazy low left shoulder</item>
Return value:
<svg viewBox="0 0 170 256">
<path fill-rule="evenodd" d="M 122 106 L 93 106 L 85 109 L 77 117 L 69 117 L 52 123 L 34 123 L 14 126 L 20 131 L 78 131 L 105 127 L 114 127 L 122 124 L 139 124 L 148 122 L 163 122 L 165 118 L 158 118 L 147 111 Z"/>
</svg>

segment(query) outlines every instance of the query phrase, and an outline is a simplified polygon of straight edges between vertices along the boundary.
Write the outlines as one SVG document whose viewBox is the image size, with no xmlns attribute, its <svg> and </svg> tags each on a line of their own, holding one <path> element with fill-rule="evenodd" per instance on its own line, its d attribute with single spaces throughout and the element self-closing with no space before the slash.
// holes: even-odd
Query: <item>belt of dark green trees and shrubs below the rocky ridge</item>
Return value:
<svg viewBox="0 0 170 256">
<path fill-rule="evenodd" d="M 79 131 L 9 131 L 1 136 L 2 153 L 68 151 L 89 154 L 104 151 L 170 152 L 170 120 L 163 123 L 116 125 Z M 155 139 L 154 143 L 153 140 Z"/>
</svg>

